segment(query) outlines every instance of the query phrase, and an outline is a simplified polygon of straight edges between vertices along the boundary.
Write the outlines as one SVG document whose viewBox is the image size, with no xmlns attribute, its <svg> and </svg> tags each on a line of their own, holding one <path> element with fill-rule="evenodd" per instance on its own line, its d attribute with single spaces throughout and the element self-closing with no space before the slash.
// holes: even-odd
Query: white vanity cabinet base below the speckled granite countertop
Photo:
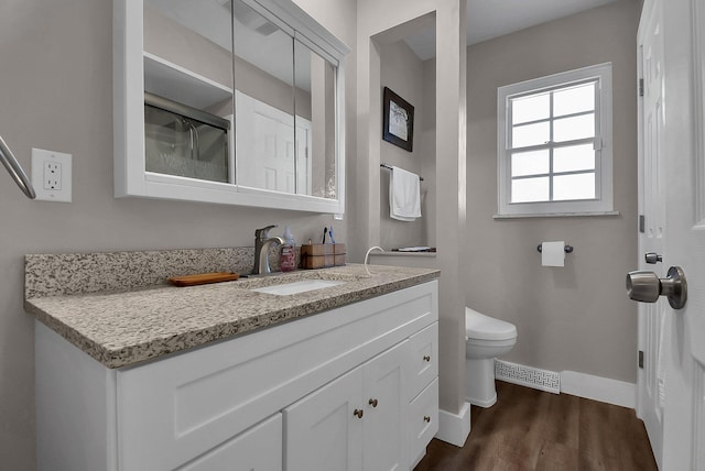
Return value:
<svg viewBox="0 0 705 471">
<path fill-rule="evenodd" d="M 37 322 L 37 469 L 410 469 L 437 316 L 432 281 L 118 370 Z"/>
</svg>

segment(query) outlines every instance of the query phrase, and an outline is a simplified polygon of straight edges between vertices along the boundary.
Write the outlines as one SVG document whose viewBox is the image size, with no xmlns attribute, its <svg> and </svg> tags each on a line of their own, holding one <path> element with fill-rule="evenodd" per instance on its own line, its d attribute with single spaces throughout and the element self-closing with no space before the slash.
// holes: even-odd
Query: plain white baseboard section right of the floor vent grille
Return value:
<svg viewBox="0 0 705 471">
<path fill-rule="evenodd" d="M 636 384 L 576 371 L 561 372 L 561 392 L 631 409 L 637 405 Z"/>
</svg>

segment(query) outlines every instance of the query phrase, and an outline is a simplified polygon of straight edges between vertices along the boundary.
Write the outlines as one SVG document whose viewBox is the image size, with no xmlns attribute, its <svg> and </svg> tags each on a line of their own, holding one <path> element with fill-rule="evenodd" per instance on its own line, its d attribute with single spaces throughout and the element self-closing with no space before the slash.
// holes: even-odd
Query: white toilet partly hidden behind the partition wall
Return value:
<svg viewBox="0 0 705 471">
<path fill-rule="evenodd" d="M 497 402 L 495 357 L 517 343 L 513 324 L 465 308 L 465 401 L 480 407 Z"/>
</svg>

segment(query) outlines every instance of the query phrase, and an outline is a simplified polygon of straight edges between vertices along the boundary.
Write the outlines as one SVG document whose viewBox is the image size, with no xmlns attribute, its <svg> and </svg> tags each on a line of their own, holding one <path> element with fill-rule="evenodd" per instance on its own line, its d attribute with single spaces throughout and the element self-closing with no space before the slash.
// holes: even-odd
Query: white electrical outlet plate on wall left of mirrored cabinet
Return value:
<svg viewBox="0 0 705 471">
<path fill-rule="evenodd" d="M 36 199 L 72 200 L 72 155 L 32 149 L 32 186 Z"/>
</svg>

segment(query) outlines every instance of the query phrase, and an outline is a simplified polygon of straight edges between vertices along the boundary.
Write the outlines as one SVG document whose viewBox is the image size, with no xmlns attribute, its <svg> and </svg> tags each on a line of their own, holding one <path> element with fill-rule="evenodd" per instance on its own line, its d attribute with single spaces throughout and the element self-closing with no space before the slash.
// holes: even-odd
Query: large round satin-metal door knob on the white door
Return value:
<svg viewBox="0 0 705 471">
<path fill-rule="evenodd" d="M 687 300 L 685 273 L 680 266 L 671 266 L 665 278 L 659 278 L 653 272 L 629 272 L 627 294 L 642 303 L 655 303 L 659 296 L 666 296 L 673 309 L 682 309 Z"/>
</svg>

